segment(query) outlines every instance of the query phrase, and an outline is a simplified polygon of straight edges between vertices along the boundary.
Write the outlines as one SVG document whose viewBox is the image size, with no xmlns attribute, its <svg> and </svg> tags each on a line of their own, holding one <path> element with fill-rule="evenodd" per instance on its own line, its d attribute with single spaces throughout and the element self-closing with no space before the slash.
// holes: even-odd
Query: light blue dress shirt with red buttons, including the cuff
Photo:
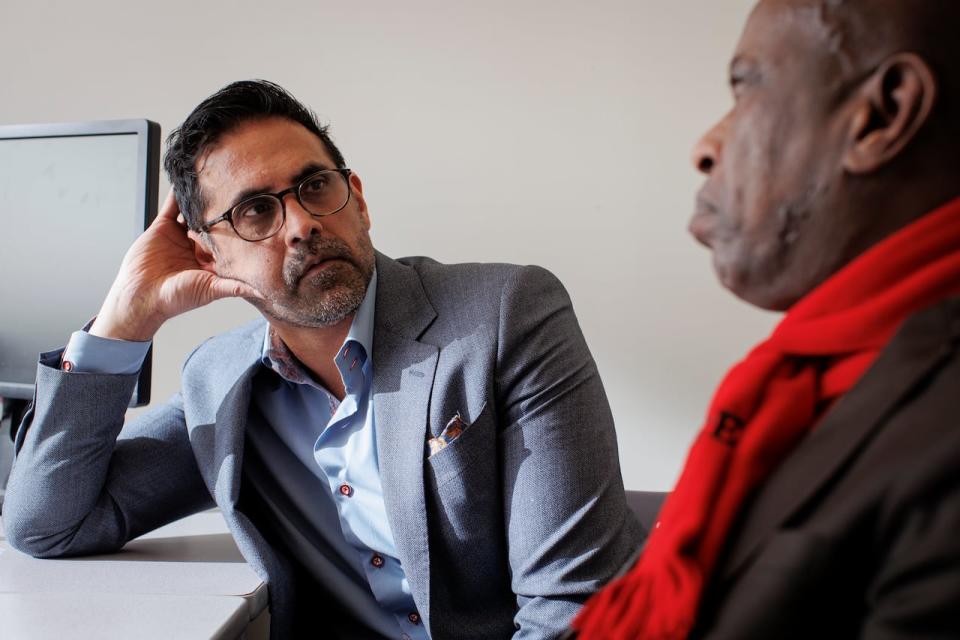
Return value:
<svg viewBox="0 0 960 640">
<path fill-rule="evenodd" d="M 373 325 L 377 290 L 374 272 L 350 331 L 337 352 L 335 364 L 343 381 L 342 402 L 317 383 L 270 330 L 264 334 L 261 361 L 281 378 L 280 384 L 255 385 L 252 401 L 266 418 L 251 422 L 250 429 L 272 429 L 298 460 L 329 487 L 329 494 L 315 496 L 316 515 L 331 513 L 337 519 L 313 519 L 317 533 L 330 541 L 328 549 L 340 553 L 354 569 L 325 575 L 323 582 L 339 592 L 338 581 L 366 584 L 343 585 L 343 591 L 372 595 L 370 607 L 356 603 L 363 620 L 387 637 L 427 640 L 429 634 L 419 614 L 387 520 L 377 459 L 373 395 Z M 64 351 L 64 361 L 75 372 L 135 373 L 146 356 L 149 342 L 107 340 L 78 331 Z M 259 426 L 258 426 L 259 425 Z M 250 442 L 269 446 L 269 439 L 249 434 Z M 269 459 L 269 452 L 263 457 Z M 273 467 L 284 474 L 283 465 Z M 314 491 L 302 476 L 287 472 L 277 478 L 277 487 L 287 487 L 300 496 Z M 358 589 L 358 587 L 360 587 Z M 362 599 L 365 599 L 361 596 Z"/>
</svg>

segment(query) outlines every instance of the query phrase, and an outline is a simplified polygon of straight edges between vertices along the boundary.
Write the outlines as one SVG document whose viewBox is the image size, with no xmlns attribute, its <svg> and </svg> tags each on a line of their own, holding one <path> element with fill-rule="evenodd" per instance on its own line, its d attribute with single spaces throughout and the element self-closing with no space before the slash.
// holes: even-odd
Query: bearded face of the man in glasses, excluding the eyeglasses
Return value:
<svg viewBox="0 0 960 640">
<path fill-rule="evenodd" d="M 204 220 L 253 193 L 276 193 L 307 172 L 334 168 L 323 142 L 292 120 L 241 123 L 197 161 Z M 300 327 L 336 324 L 363 301 L 375 264 L 360 181 L 351 176 L 350 201 L 329 216 L 311 216 L 292 194 L 284 204 L 283 228 L 260 242 L 242 240 L 229 223 L 213 227 L 213 267 L 260 291 L 266 300 L 255 304 L 271 320 Z"/>
</svg>

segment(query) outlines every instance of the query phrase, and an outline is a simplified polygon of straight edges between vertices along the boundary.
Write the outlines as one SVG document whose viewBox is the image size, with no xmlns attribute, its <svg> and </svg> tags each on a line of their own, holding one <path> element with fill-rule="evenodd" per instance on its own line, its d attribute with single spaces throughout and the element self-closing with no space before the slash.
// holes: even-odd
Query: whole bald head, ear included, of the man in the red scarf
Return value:
<svg viewBox="0 0 960 640">
<path fill-rule="evenodd" d="M 960 0 L 760 0 L 694 152 L 691 231 L 727 288 L 789 308 L 960 194 L 958 27 Z"/>
</svg>

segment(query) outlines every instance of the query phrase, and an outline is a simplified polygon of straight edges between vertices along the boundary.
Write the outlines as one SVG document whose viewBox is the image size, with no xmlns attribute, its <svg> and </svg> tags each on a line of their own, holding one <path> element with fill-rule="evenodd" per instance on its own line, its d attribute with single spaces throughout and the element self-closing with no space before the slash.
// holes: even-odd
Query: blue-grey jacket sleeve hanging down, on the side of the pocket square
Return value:
<svg viewBox="0 0 960 640">
<path fill-rule="evenodd" d="M 497 360 L 514 637 L 556 638 L 643 534 L 596 364 L 546 270 L 526 267 L 504 288 Z"/>
</svg>

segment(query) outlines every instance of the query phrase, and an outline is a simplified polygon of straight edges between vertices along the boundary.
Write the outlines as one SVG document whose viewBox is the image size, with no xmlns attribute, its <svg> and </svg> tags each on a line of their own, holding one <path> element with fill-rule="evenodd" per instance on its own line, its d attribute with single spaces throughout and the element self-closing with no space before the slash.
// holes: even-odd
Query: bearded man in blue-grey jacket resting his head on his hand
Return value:
<svg viewBox="0 0 960 640">
<path fill-rule="evenodd" d="M 271 83 L 201 103 L 165 165 L 176 198 L 88 330 L 41 356 L 10 543 L 101 553 L 215 503 L 274 637 L 555 636 L 641 538 L 559 282 L 375 252 L 359 178 Z M 156 330 L 228 296 L 266 321 L 124 424 Z"/>
</svg>

